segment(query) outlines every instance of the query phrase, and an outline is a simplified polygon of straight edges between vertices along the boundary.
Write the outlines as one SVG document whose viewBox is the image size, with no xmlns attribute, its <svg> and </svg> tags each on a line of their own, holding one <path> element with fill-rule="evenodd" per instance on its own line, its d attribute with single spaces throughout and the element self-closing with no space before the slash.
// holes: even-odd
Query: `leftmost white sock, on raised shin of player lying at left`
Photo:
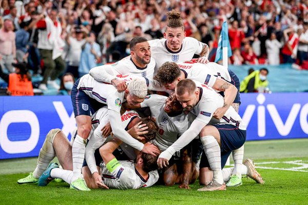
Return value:
<svg viewBox="0 0 308 205">
<path fill-rule="evenodd" d="M 38 155 L 36 168 L 33 172 L 33 176 L 36 179 L 40 178 L 43 172 L 47 169 L 50 161 L 55 157 L 55 151 L 53 149 L 52 142 L 48 138 L 48 134 L 40 150 L 40 154 Z"/>
</svg>

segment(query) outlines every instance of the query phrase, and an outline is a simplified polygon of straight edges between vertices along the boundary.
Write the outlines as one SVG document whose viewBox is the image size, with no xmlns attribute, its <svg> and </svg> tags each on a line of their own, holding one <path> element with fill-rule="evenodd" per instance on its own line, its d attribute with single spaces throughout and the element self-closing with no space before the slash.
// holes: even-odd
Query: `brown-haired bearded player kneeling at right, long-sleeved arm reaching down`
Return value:
<svg viewBox="0 0 308 205">
<path fill-rule="evenodd" d="M 246 140 L 246 125 L 233 107 L 229 107 L 224 116 L 215 124 L 208 125 L 213 113 L 224 105 L 224 99 L 212 88 L 198 81 L 180 80 L 176 87 L 176 96 L 182 107 L 197 117 L 189 129 L 160 154 L 159 167 L 167 166 L 171 156 L 188 145 L 199 134 L 208 159 L 208 167 L 213 170 L 213 181 L 201 191 L 225 190 L 221 169 L 229 154 L 243 146 Z M 221 152 L 224 154 L 221 155 Z M 241 179 L 241 173 L 237 173 L 237 176 Z"/>
</svg>

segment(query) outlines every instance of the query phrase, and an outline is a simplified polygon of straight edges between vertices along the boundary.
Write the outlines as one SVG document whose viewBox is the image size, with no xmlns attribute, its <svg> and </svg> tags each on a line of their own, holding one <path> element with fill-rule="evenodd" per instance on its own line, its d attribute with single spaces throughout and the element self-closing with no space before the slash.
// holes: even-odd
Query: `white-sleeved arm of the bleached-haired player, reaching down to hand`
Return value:
<svg viewBox="0 0 308 205">
<path fill-rule="evenodd" d="M 121 139 L 126 144 L 144 153 L 152 154 L 154 156 L 160 154 L 160 151 L 156 146 L 150 144 L 143 145 L 140 141 L 134 139 L 121 126 L 119 126 L 121 125 L 121 116 L 119 112 L 108 109 L 108 113 L 112 132 L 115 137 Z"/>
</svg>

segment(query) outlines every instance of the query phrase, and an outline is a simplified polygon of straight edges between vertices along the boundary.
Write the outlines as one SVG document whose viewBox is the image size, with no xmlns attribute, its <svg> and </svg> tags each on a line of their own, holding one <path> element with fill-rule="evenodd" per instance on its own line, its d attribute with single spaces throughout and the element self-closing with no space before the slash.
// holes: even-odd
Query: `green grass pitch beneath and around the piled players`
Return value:
<svg viewBox="0 0 308 205">
<path fill-rule="evenodd" d="M 255 159 L 257 164 L 294 160 L 308 164 L 307 145 L 308 139 L 246 142 L 244 158 Z M 36 158 L 0 161 L 1 204 L 307 204 L 307 172 L 258 169 L 264 177 L 264 185 L 243 178 L 242 186 L 217 192 L 197 192 L 201 188 L 198 182 L 191 185 L 190 190 L 181 190 L 175 185 L 90 192 L 70 190 L 67 183 L 51 182 L 47 187 L 18 185 L 17 179 L 27 176 L 35 165 Z M 271 163 L 266 167 L 298 166 Z"/>
</svg>

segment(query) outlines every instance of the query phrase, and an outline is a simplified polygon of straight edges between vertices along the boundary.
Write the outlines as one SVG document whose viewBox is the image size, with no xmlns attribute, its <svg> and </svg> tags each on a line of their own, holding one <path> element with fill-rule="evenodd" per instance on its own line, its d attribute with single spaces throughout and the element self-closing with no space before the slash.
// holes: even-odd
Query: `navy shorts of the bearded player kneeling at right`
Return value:
<svg viewBox="0 0 308 205">
<path fill-rule="evenodd" d="M 221 141 L 221 169 L 225 166 L 226 161 L 233 150 L 242 147 L 246 141 L 246 130 L 240 130 L 236 126 L 217 124 L 215 126 L 220 134 Z M 203 151 L 200 168 L 209 167 L 206 155 Z"/>
</svg>

